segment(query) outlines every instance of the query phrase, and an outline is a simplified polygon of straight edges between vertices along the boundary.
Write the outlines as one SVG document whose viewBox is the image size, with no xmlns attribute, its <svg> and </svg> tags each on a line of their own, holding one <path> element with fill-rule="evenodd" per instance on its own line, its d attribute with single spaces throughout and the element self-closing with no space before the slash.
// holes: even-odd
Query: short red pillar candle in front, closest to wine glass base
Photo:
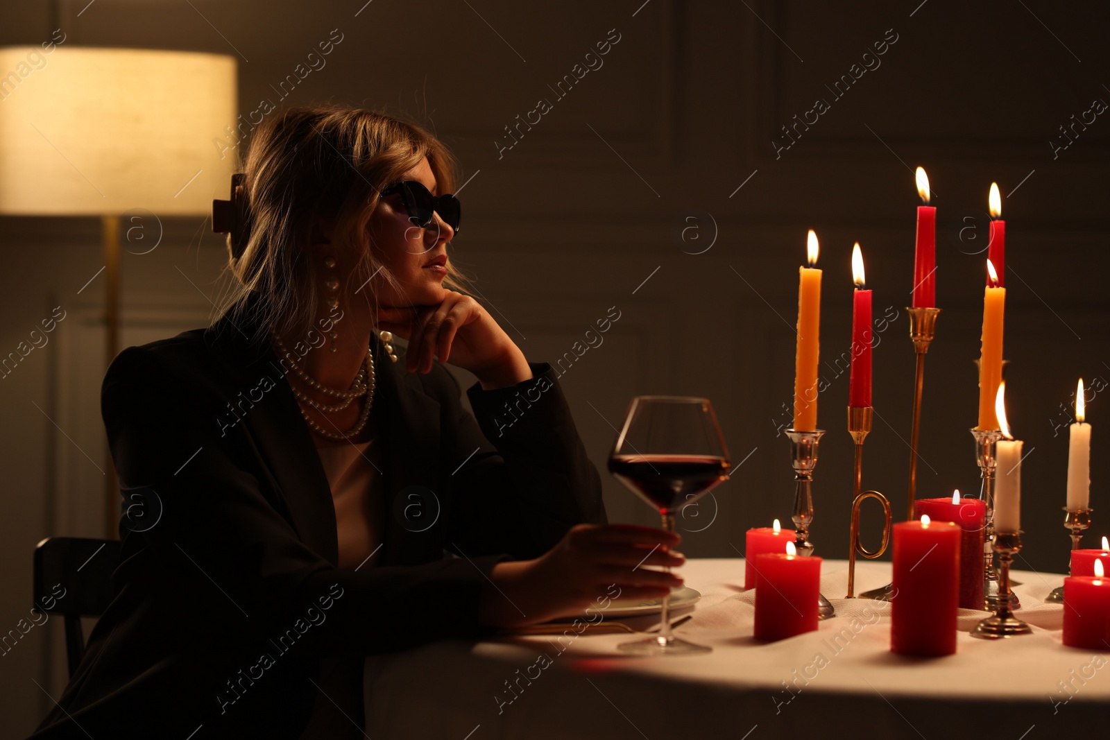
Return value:
<svg viewBox="0 0 1110 740">
<path fill-rule="evenodd" d="M 821 559 L 794 554 L 764 553 L 756 557 L 757 640 L 781 640 L 817 629 Z"/>
</svg>

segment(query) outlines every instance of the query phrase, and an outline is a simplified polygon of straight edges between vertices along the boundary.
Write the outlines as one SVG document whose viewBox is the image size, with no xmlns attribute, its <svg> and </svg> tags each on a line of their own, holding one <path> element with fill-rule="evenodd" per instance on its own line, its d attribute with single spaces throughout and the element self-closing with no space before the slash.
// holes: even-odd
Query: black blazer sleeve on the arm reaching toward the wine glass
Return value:
<svg viewBox="0 0 1110 740">
<path fill-rule="evenodd" d="M 206 607 L 189 605 L 194 615 L 220 615 L 232 630 L 258 636 L 316 614 L 321 621 L 296 645 L 321 657 L 488 631 L 477 621 L 480 594 L 506 556 L 333 567 L 300 540 L 275 487 L 261 485 L 266 472 L 243 425 L 220 436 L 220 394 L 178 364 L 148 348 L 124 349 L 104 378 L 101 410 L 121 486 L 153 491 L 161 508 L 142 531 L 121 521 L 121 536 L 141 538 L 125 551 L 155 558 L 161 577 L 182 579 L 183 592 L 205 594 Z M 122 587 L 153 592 L 162 585 Z"/>
</svg>

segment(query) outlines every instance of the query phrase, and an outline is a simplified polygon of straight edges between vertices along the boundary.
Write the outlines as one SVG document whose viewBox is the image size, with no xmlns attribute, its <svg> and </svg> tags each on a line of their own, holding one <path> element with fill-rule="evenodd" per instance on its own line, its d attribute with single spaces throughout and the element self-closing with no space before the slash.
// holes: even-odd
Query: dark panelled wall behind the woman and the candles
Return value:
<svg viewBox="0 0 1110 740">
<path fill-rule="evenodd" d="M 1028 453 L 1019 565 L 1066 568 L 1061 425 L 1079 376 L 1102 385 L 1110 378 L 1110 121 L 1098 114 L 1077 125 L 1067 146 L 1060 126 L 1094 101 L 1110 102 L 1106 3 L 363 2 L 78 0 L 62 3 L 53 22 L 46 6 L 26 3 L 0 11 L 0 44 L 44 40 L 57 24 L 71 44 L 229 53 L 240 61 L 244 115 L 264 100 L 337 101 L 432 126 L 458 155 L 464 178 L 473 175 L 461 195 L 465 230 L 454 259 L 477 276 L 485 305 L 529 358 L 562 356 L 609 306 L 622 312 L 605 344 L 563 378 L 603 469 L 630 396 L 714 401 L 734 462 L 744 464 L 680 520 L 692 556 L 736 556 L 746 528 L 789 518 L 788 446 L 777 430 L 789 420 L 783 404 L 793 387 L 796 272 L 807 229 L 823 244 L 823 372 L 830 383 L 819 402 L 828 435 L 817 469 L 818 554 L 848 553 L 848 384 L 833 359 L 850 341 L 855 241 L 876 313 L 897 313 L 875 352 L 877 418 L 865 486 L 886 491 L 896 516 L 905 510 L 914 368 L 905 306 L 919 164 L 938 207 L 944 310 L 928 355 L 919 494 L 977 490 L 968 428 L 977 414 L 987 191 L 997 181 L 1008 222 L 1009 416 Z M 326 65 L 282 99 L 274 88 L 333 29 L 342 41 Z M 552 90 L 576 63 L 596 65 L 587 52 L 618 34 L 599 69 L 562 98 Z M 874 55 L 884 40 L 885 53 Z M 829 88 L 852 64 L 870 69 L 837 97 Z M 828 110 L 786 148 L 781 126 L 818 98 Z M 551 110 L 505 149 L 512 140 L 504 128 L 539 99 Z M 125 320 L 160 302 L 206 311 L 195 285 L 216 292 L 220 239 L 200 219 L 168 223 L 164 249 L 149 259 L 125 255 Z M 692 224 L 697 229 L 683 231 Z M 3 347 L 14 346 L 54 296 L 89 311 L 98 305 L 99 285 L 73 295 L 99 264 L 94 222 L 4 217 L 0 240 L 11 266 L 0 292 Z M 78 403 L 57 393 L 50 374 L 59 356 L 49 352 L 0 387 L 10 419 L 0 448 L 22 497 L 0 518 L 3 590 L 14 597 L 0 614 L 3 629 L 23 614 L 34 541 L 75 534 L 52 524 L 54 503 L 75 484 L 53 470 L 51 449 L 69 443 L 27 403 Z M 88 365 L 93 388 L 99 367 Z M 1107 490 L 1098 462 L 1110 434 L 1103 404 L 1096 395 L 1088 416 L 1096 427 L 1092 541 L 1110 533 L 1099 524 Z M 612 520 L 654 523 L 604 477 Z M 20 650 L 9 661 L 23 662 L 0 682 L 6 696 L 34 709 L 20 720 L 22 732 L 49 703 L 27 675 L 53 670 L 44 686 L 63 679 L 44 641 Z"/>
</svg>

